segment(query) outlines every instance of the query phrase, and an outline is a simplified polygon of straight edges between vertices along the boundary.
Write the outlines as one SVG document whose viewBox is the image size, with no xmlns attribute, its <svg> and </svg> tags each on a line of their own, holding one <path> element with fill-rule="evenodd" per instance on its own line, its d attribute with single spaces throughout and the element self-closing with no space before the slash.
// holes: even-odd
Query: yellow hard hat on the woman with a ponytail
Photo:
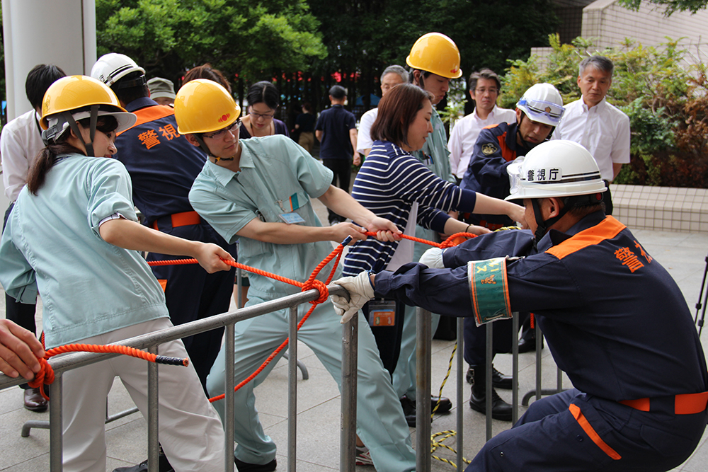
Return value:
<svg viewBox="0 0 708 472">
<path fill-rule="evenodd" d="M 125 108 L 120 106 L 115 93 L 101 81 L 89 76 L 67 76 L 62 77 L 47 88 L 42 100 L 40 126 L 42 129 L 47 129 L 49 127 L 47 120 L 52 115 L 86 108 L 91 105 L 99 105 L 100 109 L 104 111 L 128 114 Z M 132 115 L 132 113 L 129 115 Z M 130 120 L 131 118 L 125 117 L 125 119 Z M 118 121 L 119 123 L 121 122 L 120 119 Z M 135 122 L 134 115 L 132 116 L 132 121 Z"/>
</svg>

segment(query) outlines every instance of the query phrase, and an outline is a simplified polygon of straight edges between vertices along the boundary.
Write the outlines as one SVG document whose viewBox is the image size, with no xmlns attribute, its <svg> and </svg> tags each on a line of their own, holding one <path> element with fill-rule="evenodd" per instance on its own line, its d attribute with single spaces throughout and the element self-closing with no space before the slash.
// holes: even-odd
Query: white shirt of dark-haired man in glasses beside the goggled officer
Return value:
<svg viewBox="0 0 708 472">
<path fill-rule="evenodd" d="M 450 169 L 453 174 L 458 178 L 464 177 L 464 171 L 467 171 L 472 149 L 481 129 L 501 122 L 515 123 L 516 112 L 494 105 L 486 120 L 482 120 L 475 108 L 472 113 L 455 123 L 450 133 L 450 140 L 447 142 L 447 149 L 450 150 Z"/>
</svg>

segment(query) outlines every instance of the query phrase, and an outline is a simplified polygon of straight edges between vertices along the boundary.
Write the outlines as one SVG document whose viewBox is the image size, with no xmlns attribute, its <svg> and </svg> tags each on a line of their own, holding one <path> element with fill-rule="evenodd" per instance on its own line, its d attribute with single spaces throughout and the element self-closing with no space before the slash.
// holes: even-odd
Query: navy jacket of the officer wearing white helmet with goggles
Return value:
<svg viewBox="0 0 708 472">
<path fill-rule="evenodd" d="M 509 125 L 503 122 L 484 127 L 479 132 L 467 171 L 459 186 L 489 197 L 503 199 L 510 193 L 506 168 L 517 155 L 523 156 L 525 153 L 526 150 L 516 142 L 516 123 Z M 491 214 L 472 214 L 466 221 L 490 229 L 514 224 L 514 221 L 506 215 Z"/>
</svg>

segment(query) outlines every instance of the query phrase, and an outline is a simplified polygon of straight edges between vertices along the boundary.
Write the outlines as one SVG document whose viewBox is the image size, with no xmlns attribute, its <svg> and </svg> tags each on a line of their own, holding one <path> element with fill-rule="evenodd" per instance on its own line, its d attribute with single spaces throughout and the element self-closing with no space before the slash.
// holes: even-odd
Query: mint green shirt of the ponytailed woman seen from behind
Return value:
<svg viewBox="0 0 708 472">
<path fill-rule="evenodd" d="M 169 316 L 160 284 L 137 251 L 106 243 L 98 224 L 137 221 L 132 185 L 115 159 L 59 156 L 45 184 L 23 188 L 0 241 L 0 283 L 44 306 L 47 349 Z"/>
</svg>

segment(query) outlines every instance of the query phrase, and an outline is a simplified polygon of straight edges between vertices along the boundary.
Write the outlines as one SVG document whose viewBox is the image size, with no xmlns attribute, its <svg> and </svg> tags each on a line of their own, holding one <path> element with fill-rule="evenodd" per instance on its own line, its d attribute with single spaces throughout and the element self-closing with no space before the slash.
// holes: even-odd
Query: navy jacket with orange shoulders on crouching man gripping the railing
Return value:
<svg viewBox="0 0 708 472">
<path fill-rule="evenodd" d="M 376 297 L 472 316 L 467 261 L 515 255 L 527 231 L 517 232 L 447 249 L 443 260 L 456 267 L 452 271 L 409 264 L 395 274 L 382 272 Z M 623 224 L 595 212 L 567 233 L 549 231 L 537 251 L 507 265 L 510 306 L 535 313 L 573 386 L 615 402 L 708 390 L 703 350 L 683 294 Z"/>
</svg>

